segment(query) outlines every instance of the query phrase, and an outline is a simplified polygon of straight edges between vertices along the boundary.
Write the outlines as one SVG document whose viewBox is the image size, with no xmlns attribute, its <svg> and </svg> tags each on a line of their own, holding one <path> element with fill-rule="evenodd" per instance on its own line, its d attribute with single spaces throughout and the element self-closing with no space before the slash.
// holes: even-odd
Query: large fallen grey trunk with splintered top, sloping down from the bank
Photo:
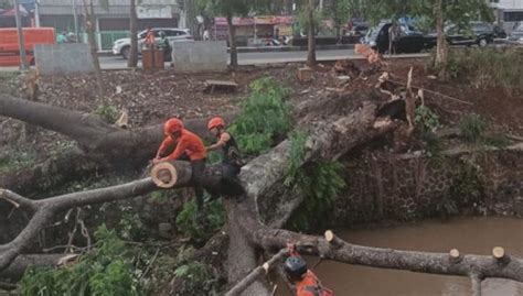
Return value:
<svg viewBox="0 0 523 296">
<path fill-rule="evenodd" d="M 349 150 L 394 129 L 394 124 L 375 129 L 375 105 L 363 103 L 359 110 L 346 117 L 338 116 L 313 122 L 308 129 L 310 136 L 302 163 L 314 158 L 337 160 Z M 280 182 L 287 173 L 290 164 L 290 141 L 286 140 L 242 168 L 239 178 L 249 199 L 244 202 L 248 206 L 239 208 L 233 205 L 228 210 L 231 219 L 230 283 L 238 282 L 256 266 L 257 257 L 254 246 L 262 244 L 248 239 L 249 235 L 245 232 L 249 230 L 244 227 L 247 222 L 245 219 L 254 219 L 262 224 L 257 209 L 258 199 L 263 198 L 267 190 Z M 252 223 L 248 224 L 252 226 Z M 257 283 L 250 286 L 245 295 L 267 295 L 268 293 L 263 285 Z"/>
</svg>

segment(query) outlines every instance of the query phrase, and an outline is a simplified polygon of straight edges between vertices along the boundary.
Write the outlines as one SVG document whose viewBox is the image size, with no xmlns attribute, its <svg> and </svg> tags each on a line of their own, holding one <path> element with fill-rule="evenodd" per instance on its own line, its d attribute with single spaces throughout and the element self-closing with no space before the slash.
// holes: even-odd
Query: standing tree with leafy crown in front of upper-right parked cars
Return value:
<svg viewBox="0 0 523 296">
<path fill-rule="evenodd" d="M 367 14 L 375 22 L 380 19 L 397 19 L 410 15 L 434 20 L 433 28 L 437 32 L 437 47 L 434 66 L 440 69 L 440 77 L 446 78 L 445 66 L 448 57 L 445 25 L 456 24 L 466 29 L 470 21 L 492 20 L 492 11 L 484 0 L 370 0 Z"/>
</svg>

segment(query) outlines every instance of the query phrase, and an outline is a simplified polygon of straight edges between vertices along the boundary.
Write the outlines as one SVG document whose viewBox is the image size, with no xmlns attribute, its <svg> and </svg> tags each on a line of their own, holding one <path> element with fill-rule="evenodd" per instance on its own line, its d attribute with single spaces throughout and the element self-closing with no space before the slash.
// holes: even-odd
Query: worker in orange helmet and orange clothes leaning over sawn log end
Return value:
<svg viewBox="0 0 523 296">
<path fill-rule="evenodd" d="M 178 118 L 169 119 L 163 125 L 163 139 L 160 147 L 158 149 L 153 164 L 164 161 L 174 161 L 179 160 L 181 156 L 186 155 L 191 161 L 192 167 L 192 184 L 194 186 L 194 191 L 196 195 L 196 206 L 199 212 L 203 210 L 203 188 L 202 188 L 202 176 L 203 171 L 205 169 L 205 146 L 203 145 L 202 140 L 196 134 L 185 130 L 183 128 L 183 122 Z M 166 151 L 177 143 L 174 152 L 169 154 L 166 157 L 162 155 Z"/>
</svg>

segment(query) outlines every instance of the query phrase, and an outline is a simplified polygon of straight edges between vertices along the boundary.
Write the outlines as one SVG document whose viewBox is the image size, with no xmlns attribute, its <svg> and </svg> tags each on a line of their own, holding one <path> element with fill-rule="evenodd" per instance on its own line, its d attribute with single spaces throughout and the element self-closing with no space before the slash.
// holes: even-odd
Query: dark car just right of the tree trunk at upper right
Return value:
<svg viewBox="0 0 523 296">
<path fill-rule="evenodd" d="M 470 30 L 460 29 L 453 24 L 445 28 L 445 35 L 450 45 L 478 45 L 487 46 L 494 42 L 495 32 L 493 25 L 483 22 L 471 22 Z M 430 33 L 425 37 L 426 47 L 436 46 L 437 34 Z"/>
</svg>

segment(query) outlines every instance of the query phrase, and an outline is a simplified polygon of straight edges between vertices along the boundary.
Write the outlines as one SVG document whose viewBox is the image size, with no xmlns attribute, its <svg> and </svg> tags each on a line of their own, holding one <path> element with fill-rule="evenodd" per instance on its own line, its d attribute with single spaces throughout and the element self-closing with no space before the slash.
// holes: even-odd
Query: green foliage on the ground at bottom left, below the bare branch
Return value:
<svg viewBox="0 0 523 296">
<path fill-rule="evenodd" d="M 57 268 L 30 267 L 22 277 L 23 296 L 142 295 L 139 273 L 126 245 L 105 226 L 95 232 L 96 246 L 79 262 Z"/>
</svg>

